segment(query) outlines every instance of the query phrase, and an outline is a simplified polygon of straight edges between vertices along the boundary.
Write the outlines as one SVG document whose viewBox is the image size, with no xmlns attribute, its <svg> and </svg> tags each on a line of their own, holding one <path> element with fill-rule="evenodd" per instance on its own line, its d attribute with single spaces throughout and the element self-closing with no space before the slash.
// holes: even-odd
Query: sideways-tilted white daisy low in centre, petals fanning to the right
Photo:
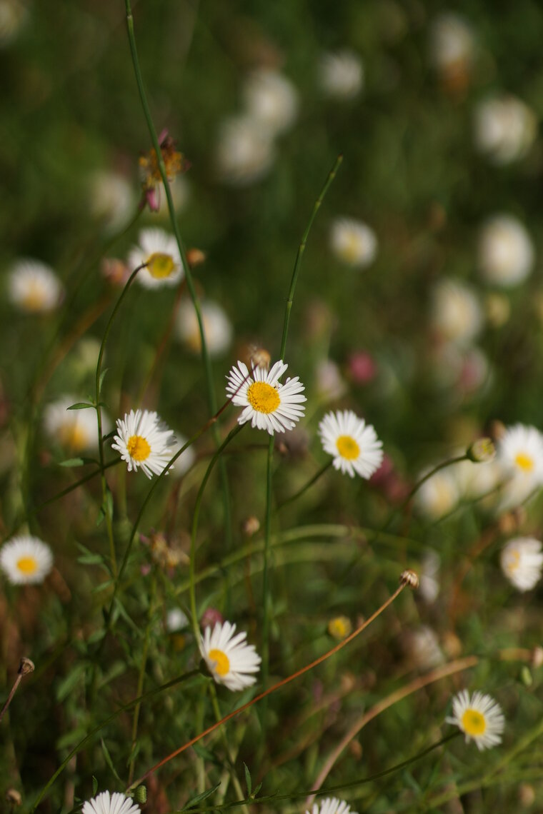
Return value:
<svg viewBox="0 0 543 814">
<path fill-rule="evenodd" d="M 217 684 L 235 691 L 256 682 L 251 673 L 259 671 L 261 657 L 254 645 L 247 645 L 247 633 L 234 633 L 235 624 L 217 622 L 214 628 L 205 628 L 199 649 Z"/>
</svg>

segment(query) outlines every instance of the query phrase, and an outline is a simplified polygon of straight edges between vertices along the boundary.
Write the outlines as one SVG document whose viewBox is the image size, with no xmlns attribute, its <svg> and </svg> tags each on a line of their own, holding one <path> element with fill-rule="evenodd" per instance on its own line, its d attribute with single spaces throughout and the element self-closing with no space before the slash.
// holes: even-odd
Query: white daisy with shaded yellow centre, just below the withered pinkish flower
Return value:
<svg viewBox="0 0 543 814">
<path fill-rule="evenodd" d="M 177 241 L 173 234 L 162 229 L 142 229 L 138 246 L 129 252 L 128 265 L 134 271 L 138 265 L 147 263 L 138 271 L 137 279 L 146 288 L 175 286 L 184 275 Z"/>
</svg>

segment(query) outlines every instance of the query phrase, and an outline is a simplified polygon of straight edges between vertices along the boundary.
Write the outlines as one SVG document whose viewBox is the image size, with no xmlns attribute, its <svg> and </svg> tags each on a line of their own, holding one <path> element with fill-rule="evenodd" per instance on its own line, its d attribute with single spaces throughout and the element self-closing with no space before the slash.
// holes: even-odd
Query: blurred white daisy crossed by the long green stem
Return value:
<svg viewBox="0 0 543 814">
<path fill-rule="evenodd" d="M 232 343 L 232 323 L 221 306 L 213 300 L 200 302 L 204 334 L 209 355 L 220 356 Z M 176 317 L 176 334 L 182 343 L 194 353 L 199 353 L 202 343 L 194 305 L 190 300 L 182 300 Z"/>
</svg>

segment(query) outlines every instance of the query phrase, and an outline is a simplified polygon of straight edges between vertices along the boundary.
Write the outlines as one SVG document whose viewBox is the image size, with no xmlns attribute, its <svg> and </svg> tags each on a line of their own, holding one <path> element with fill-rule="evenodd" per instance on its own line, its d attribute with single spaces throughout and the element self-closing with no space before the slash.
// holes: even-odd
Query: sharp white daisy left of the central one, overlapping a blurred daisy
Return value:
<svg viewBox="0 0 543 814">
<path fill-rule="evenodd" d="M 128 464 L 128 470 L 142 470 L 151 478 L 153 473 L 160 475 L 173 457 L 175 437 L 155 412 L 131 409 L 125 418 L 117 418 L 117 435 L 113 438 L 112 449 L 120 452 L 120 457 Z M 175 466 L 175 465 L 173 465 Z"/>
</svg>

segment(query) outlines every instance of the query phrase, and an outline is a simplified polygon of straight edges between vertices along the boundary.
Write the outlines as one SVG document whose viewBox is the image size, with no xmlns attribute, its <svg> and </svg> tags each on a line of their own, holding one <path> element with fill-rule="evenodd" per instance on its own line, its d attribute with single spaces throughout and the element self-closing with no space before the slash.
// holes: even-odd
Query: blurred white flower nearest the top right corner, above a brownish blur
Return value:
<svg viewBox="0 0 543 814">
<path fill-rule="evenodd" d="M 430 60 L 440 72 L 470 68 L 475 51 L 473 29 L 453 11 L 444 11 L 430 26 Z"/>
</svg>

